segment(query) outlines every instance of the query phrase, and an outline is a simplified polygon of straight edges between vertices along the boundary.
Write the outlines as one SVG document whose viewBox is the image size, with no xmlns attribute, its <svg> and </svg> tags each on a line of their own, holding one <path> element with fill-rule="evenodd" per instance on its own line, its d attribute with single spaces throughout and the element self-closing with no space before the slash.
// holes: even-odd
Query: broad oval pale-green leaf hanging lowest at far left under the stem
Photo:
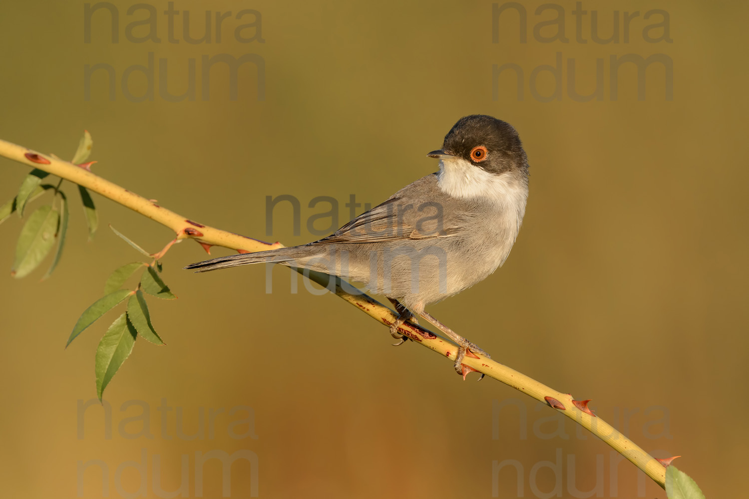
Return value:
<svg viewBox="0 0 749 499">
<path fill-rule="evenodd" d="M 16 245 L 16 259 L 10 275 L 22 278 L 36 269 L 55 244 L 60 213 L 49 204 L 31 213 Z"/>
</svg>

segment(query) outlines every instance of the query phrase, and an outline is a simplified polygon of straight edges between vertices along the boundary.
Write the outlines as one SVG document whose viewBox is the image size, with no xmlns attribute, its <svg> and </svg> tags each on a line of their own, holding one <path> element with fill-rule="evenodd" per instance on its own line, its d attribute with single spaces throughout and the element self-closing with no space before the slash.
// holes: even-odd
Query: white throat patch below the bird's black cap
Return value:
<svg viewBox="0 0 749 499">
<path fill-rule="evenodd" d="M 515 215 L 517 229 L 520 230 L 528 186 L 518 182 L 509 172 L 490 174 L 465 159 L 442 159 L 437 186 L 453 198 L 489 201 L 507 215 Z"/>
</svg>

